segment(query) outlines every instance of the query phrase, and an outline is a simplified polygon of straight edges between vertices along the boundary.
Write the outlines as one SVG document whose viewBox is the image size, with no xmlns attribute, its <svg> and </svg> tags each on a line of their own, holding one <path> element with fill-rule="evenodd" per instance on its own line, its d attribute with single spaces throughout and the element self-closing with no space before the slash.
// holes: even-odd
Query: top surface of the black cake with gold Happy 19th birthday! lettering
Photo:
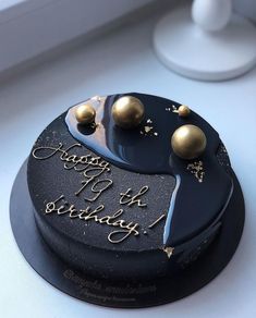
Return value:
<svg viewBox="0 0 256 318">
<path fill-rule="evenodd" d="M 112 113 L 125 96 L 137 98 L 145 112 L 130 130 Z M 96 110 L 94 125 L 77 122 L 75 111 L 85 102 Z M 145 94 L 82 103 L 56 119 L 29 156 L 33 204 L 50 227 L 88 246 L 139 252 L 175 248 L 212 224 L 232 180 L 223 168 L 227 151 L 205 120 L 193 111 L 180 117 L 180 103 Z M 184 125 L 199 127 L 207 139 L 195 159 L 176 156 L 171 146 Z"/>
</svg>

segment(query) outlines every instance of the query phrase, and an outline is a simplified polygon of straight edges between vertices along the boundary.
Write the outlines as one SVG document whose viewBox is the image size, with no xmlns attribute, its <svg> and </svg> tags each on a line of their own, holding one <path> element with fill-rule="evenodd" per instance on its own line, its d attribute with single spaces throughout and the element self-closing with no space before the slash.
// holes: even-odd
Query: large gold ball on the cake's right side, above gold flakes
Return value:
<svg viewBox="0 0 256 318">
<path fill-rule="evenodd" d="M 183 125 L 175 130 L 171 137 L 171 146 L 182 159 L 198 158 L 206 148 L 205 133 L 195 125 Z"/>
</svg>

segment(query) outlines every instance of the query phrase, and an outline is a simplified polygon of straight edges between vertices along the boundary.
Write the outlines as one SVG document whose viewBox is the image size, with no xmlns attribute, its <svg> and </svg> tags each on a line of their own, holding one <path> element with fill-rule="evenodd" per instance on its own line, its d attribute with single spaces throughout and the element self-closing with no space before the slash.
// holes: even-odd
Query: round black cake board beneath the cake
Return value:
<svg viewBox="0 0 256 318">
<path fill-rule="evenodd" d="M 172 278 L 130 283 L 88 277 L 63 262 L 44 242 L 34 219 L 24 162 L 14 181 L 10 219 L 19 248 L 28 264 L 60 291 L 85 302 L 120 308 L 171 303 L 209 283 L 232 258 L 244 225 L 244 199 L 233 173 L 234 192 L 223 216 L 221 231 L 209 248 Z"/>
</svg>

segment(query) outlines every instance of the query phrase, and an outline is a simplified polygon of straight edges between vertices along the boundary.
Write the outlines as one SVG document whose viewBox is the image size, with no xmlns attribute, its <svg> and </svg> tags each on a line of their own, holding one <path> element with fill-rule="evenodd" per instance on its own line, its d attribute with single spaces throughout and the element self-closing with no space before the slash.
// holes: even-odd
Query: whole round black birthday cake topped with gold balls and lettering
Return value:
<svg viewBox="0 0 256 318">
<path fill-rule="evenodd" d="M 96 96 L 71 107 L 41 133 L 27 163 L 42 240 L 73 271 L 122 284 L 115 303 L 125 307 L 144 306 L 125 286 L 151 286 L 145 304 L 164 303 L 154 301 L 155 282 L 207 264 L 231 213 L 234 178 L 204 119 L 145 94 Z"/>
</svg>

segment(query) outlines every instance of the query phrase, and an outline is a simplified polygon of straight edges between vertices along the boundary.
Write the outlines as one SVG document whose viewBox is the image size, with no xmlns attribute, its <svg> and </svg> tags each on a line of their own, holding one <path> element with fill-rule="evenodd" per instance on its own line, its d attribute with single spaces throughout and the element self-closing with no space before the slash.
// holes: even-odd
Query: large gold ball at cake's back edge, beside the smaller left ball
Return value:
<svg viewBox="0 0 256 318">
<path fill-rule="evenodd" d="M 144 106 L 133 96 L 123 96 L 112 106 L 115 124 L 122 129 L 132 129 L 141 124 L 144 118 Z"/>
</svg>

